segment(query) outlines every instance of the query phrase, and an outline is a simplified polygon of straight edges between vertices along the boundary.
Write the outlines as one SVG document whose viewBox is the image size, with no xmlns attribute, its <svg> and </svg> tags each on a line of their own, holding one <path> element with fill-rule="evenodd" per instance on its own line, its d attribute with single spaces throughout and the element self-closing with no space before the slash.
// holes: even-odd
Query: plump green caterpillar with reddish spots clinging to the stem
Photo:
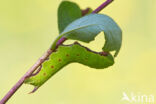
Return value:
<svg viewBox="0 0 156 104">
<path fill-rule="evenodd" d="M 26 79 L 25 83 L 34 85 L 34 92 L 61 68 L 74 62 L 91 68 L 103 69 L 113 65 L 114 59 L 109 53 L 105 55 L 103 52 L 94 52 L 78 43 L 60 45 L 42 64 L 40 72 Z"/>
</svg>

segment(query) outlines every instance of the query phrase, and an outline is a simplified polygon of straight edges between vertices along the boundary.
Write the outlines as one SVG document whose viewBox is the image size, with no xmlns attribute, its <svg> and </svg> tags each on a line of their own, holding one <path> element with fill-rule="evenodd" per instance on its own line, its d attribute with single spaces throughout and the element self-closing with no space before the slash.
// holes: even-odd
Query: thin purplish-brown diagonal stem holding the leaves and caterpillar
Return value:
<svg viewBox="0 0 156 104">
<path fill-rule="evenodd" d="M 97 9 L 95 9 L 92 13 L 98 13 L 100 12 L 103 8 L 105 8 L 108 4 L 110 4 L 113 0 L 107 0 L 104 2 L 102 5 L 100 5 Z M 61 39 L 58 40 L 56 44 L 56 48 L 61 45 L 66 38 L 62 37 Z M 37 60 L 37 62 L 24 74 L 24 76 L 9 90 L 9 92 L 3 97 L 3 99 L 0 101 L 0 104 L 5 104 L 11 96 L 21 87 L 21 85 L 24 83 L 25 79 L 30 77 L 33 72 L 49 57 L 50 54 L 52 54 L 54 50 L 48 49 L 45 54 Z"/>
</svg>

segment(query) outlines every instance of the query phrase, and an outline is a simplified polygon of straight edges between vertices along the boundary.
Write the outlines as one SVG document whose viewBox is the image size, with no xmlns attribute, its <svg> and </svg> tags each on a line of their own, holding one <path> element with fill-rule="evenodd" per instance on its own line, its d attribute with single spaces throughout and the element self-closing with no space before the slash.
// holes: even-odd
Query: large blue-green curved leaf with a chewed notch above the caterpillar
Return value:
<svg viewBox="0 0 156 104">
<path fill-rule="evenodd" d="M 105 52 L 116 51 L 117 56 L 122 42 L 122 31 L 110 17 L 103 14 L 90 14 L 84 16 L 70 25 L 60 34 L 68 39 L 89 43 L 101 32 L 105 35 Z"/>
</svg>

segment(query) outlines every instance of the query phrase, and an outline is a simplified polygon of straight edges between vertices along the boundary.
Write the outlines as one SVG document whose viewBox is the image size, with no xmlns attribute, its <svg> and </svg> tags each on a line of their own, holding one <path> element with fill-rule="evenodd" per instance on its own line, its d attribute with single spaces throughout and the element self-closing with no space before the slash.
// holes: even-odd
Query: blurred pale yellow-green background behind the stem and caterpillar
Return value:
<svg viewBox="0 0 156 104">
<path fill-rule="evenodd" d="M 82 9 L 95 9 L 104 2 L 73 1 Z M 0 99 L 58 35 L 60 2 L 0 0 Z M 95 70 L 75 63 L 68 65 L 34 94 L 27 94 L 32 86 L 23 85 L 7 104 L 127 104 L 121 101 L 123 92 L 156 95 L 155 11 L 155 0 L 114 0 L 101 12 L 123 30 L 123 45 L 113 66 Z M 103 41 L 100 34 L 86 45 L 100 50 Z"/>
</svg>

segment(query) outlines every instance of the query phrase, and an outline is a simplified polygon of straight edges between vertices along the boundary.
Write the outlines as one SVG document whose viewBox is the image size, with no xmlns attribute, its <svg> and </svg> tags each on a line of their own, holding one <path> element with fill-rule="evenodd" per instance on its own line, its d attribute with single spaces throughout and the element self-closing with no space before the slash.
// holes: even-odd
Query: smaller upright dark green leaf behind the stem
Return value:
<svg viewBox="0 0 156 104">
<path fill-rule="evenodd" d="M 58 8 L 58 28 L 61 33 L 74 20 L 82 17 L 80 7 L 73 2 L 62 1 Z"/>
</svg>

